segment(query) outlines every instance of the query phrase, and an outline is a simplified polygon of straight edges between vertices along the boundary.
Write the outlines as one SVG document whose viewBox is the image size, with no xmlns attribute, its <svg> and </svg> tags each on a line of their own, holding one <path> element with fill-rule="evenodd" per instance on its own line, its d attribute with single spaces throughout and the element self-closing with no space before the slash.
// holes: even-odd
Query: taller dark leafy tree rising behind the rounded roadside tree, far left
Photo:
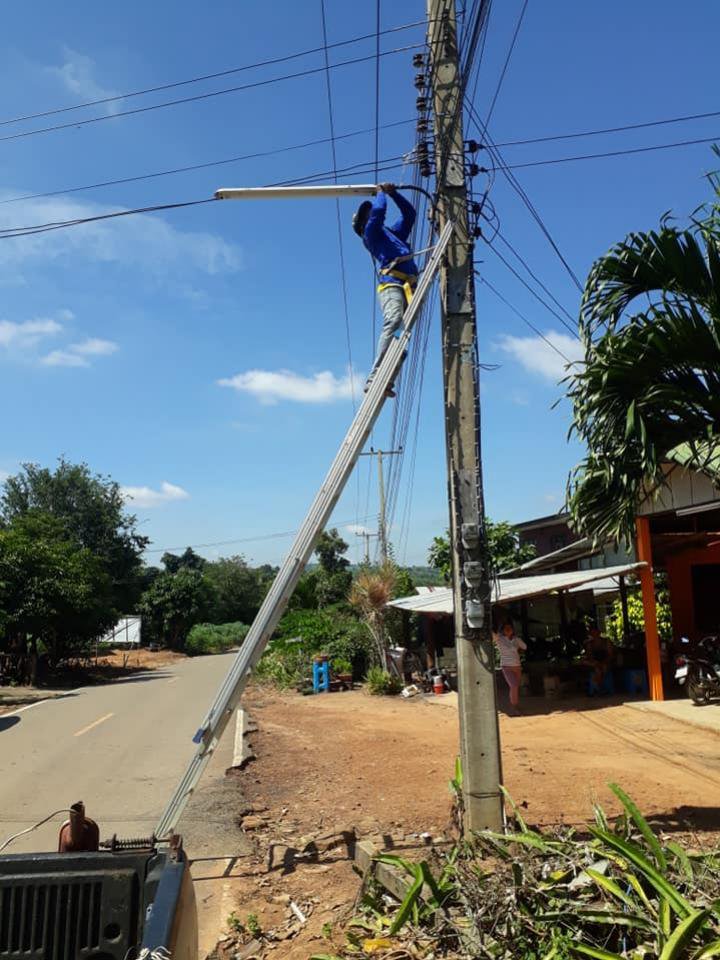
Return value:
<svg viewBox="0 0 720 960">
<path fill-rule="evenodd" d="M 78 547 L 89 550 L 111 581 L 111 606 L 129 611 L 140 592 L 141 554 L 149 540 L 137 532 L 137 518 L 125 510 L 119 485 L 93 474 L 85 463 L 60 458 L 56 469 L 22 465 L 0 494 L 0 526 L 31 511 L 50 514 Z"/>
</svg>

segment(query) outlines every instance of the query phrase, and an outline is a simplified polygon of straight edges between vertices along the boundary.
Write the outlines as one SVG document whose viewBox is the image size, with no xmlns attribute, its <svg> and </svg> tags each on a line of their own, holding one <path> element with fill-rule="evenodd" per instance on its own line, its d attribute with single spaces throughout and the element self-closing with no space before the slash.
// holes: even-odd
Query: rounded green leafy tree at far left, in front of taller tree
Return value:
<svg viewBox="0 0 720 960">
<path fill-rule="evenodd" d="M 0 530 L 0 649 L 32 682 L 38 654 L 81 654 L 115 623 L 110 577 L 62 521 L 30 510 Z"/>
</svg>

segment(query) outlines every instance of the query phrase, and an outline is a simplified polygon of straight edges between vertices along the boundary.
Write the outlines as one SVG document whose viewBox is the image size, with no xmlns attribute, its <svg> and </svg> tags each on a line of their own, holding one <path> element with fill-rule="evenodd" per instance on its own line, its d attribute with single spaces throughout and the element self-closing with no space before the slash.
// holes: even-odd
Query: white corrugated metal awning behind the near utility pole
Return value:
<svg viewBox="0 0 720 960">
<path fill-rule="evenodd" d="M 595 570 L 572 570 L 568 573 L 546 573 L 537 577 L 497 580 L 493 584 L 492 602 L 512 603 L 513 600 L 549 596 L 597 580 L 637 573 L 644 566 L 644 563 L 626 563 L 614 567 L 598 567 Z M 391 600 L 388 606 L 414 613 L 452 613 L 452 590 L 450 587 L 437 587 L 419 596 Z"/>
</svg>

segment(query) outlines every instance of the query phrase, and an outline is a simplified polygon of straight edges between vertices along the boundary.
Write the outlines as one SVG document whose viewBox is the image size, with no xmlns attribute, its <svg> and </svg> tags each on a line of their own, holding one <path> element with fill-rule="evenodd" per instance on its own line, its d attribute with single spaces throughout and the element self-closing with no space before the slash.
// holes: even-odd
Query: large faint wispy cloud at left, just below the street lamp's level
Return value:
<svg viewBox="0 0 720 960">
<path fill-rule="evenodd" d="M 0 200 L 14 195 L 0 191 Z M 66 197 L 38 198 L 18 206 L 0 206 L 0 229 L 82 220 L 121 209 Z M 235 244 L 213 233 L 181 230 L 157 213 L 5 238 L 0 245 L 0 267 L 14 276 L 25 266 L 41 264 L 46 269 L 53 262 L 63 263 L 73 257 L 81 258 L 83 264 L 135 267 L 157 279 L 172 276 L 173 289 L 181 280 L 187 283 L 193 273 L 219 275 L 242 268 L 242 254 Z"/>
</svg>

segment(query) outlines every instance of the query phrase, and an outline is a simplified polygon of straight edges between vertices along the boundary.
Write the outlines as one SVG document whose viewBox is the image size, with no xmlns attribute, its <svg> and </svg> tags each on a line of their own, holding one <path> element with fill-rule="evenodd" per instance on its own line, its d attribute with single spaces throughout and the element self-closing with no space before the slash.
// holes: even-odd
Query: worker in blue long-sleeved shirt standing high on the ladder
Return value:
<svg viewBox="0 0 720 960">
<path fill-rule="evenodd" d="M 400 210 L 400 219 L 389 227 L 385 225 L 388 197 L 392 197 Z M 417 285 L 418 268 L 407 242 L 415 223 L 415 207 L 398 192 L 394 183 L 380 183 L 375 199 L 360 204 L 352 223 L 353 230 L 377 263 L 378 299 L 383 313 L 375 363 L 365 384 L 367 393 L 385 351 L 402 327 L 405 307 Z M 392 387 L 388 388 L 387 395 L 395 396 Z"/>
</svg>

